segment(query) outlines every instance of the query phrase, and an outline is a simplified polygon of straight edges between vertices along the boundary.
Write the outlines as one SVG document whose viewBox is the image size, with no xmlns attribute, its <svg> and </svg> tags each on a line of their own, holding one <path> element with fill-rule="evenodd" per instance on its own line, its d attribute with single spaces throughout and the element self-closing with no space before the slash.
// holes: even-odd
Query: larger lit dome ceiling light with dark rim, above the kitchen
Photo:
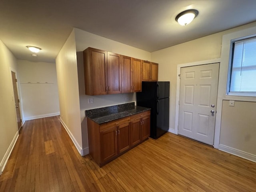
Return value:
<svg viewBox="0 0 256 192">
<path fill-rule="evenodd" d="M 189 10 L 185 10 L 182 11 L 181 13 L 179 13 L 175 20 L 180 24 L 180 25 L 187 25 L 190 24 L 192 22 L 192 20 L 198 16 L 198 10 L 196 9 L 189 9 Z"/>
</svg>

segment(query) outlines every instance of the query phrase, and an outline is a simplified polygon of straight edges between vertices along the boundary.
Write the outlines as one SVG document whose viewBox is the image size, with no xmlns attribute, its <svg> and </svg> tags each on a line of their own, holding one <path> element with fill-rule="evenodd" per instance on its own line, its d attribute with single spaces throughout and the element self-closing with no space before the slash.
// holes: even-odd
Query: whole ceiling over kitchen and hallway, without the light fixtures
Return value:
<svg viewBox="0 0 256 192">
<path fill-rule="evenodd" d="M 180 26 L 176 15 L 194 8 Z M 149 52 L 256 21 L 256 0 L 0 0 L 0 40 L 18 59 L 55 62 L 73 27 Z M 38 46 L 38 57 L 27 45 Z"/>
</svg>

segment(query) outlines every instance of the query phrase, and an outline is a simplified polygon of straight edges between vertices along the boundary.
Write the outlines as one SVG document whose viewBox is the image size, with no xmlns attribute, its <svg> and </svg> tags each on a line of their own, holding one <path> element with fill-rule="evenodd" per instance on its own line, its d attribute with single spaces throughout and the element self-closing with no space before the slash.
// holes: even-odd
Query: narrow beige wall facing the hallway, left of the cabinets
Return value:
<svg viewBox="0 0 256 192">
<path fill-rule="evenodd" d="M 56 57 L 60 118 L 76 148 L 82 151 L 78 74 L 74 30 Z"/>
</svg>

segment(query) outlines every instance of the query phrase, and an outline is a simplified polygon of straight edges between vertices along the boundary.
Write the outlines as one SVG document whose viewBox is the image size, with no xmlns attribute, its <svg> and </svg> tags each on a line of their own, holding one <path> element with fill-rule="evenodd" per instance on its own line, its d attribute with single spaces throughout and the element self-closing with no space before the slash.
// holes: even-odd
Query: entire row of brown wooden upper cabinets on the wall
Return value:
<svg viewBox="0 0 256 192">
<path fill-rule="evenodd" d="M 140 92 L 158 80 L 158 64 L 88 47 L 84 50 L 86 95 Z"/>
</svg>

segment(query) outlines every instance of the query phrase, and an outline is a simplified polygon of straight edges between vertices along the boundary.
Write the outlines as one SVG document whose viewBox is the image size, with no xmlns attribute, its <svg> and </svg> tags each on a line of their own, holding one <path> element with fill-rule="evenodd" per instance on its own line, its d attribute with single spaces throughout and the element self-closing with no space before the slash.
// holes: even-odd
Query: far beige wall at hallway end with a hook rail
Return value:
<svg viewBox="0 0 256 192">
<path fill-rule="evenodd" d="M 18 60 L 18 71 L 24 120 L 58 115 L 55 63 Z"/>
</svg>

